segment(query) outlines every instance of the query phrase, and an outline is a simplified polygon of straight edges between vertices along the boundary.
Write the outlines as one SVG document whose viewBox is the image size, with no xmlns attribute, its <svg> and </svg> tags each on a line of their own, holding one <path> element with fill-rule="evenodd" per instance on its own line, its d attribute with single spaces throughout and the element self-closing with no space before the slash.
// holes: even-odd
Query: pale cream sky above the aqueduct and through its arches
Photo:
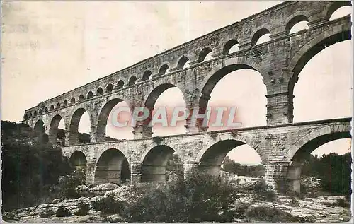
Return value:
<svg viewBox="0 0 354 224">
<path fill-rule="evenodd" d="M 280 2 L 3 2 L 1 119 L 20 122 L 25 110 L 39 102 Z M 352 48 L 351 40 L 327 47 L 304 67 L 294 90 L 294 122 L 351 117 Z M 242 69 L 217 83 L 209 103 L 236 105 L 242 126 L 260 126 L 266 124 L 265 94 L 261 75 Z M 176 105 L 184 105 L 182 93 L 170 88 L 155 108 Z M 89 131 L 88 120 L 82 117 L 79 131 Z M 131 131 L 108 123 L 108 136 L 129 139 Z M 185 129 L 181 124 L 173 129 L 156 126 L 153 131 L 154 136 L 163 136 L 183 134 Z M 349 145 L 348 140 L 333 141 L 314 153 L 346 153 Z M 249 146 L 239 146 L 229 156 L 241 163 L 260 161 Z"/>
</svg>

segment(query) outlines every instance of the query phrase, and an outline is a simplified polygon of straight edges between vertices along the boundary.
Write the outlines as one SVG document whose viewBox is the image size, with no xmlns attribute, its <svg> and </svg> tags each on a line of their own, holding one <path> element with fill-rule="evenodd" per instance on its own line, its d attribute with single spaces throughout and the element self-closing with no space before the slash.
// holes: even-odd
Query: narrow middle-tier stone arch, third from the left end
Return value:
<svg viewBox="0 0 354 224">
<path fill-rule="evenodd" d="M 82 114 L 85 112 L 88 112 L 84 107 L 79 107 L 74 112 L 72 113 L 72 116 L 70 118 L 70 124 L 69 124 L 69 144 L 74 145 L 79 143 L 79 124 L 80 124 L 80 119 L 82 117 Z M 91 119 L 91 114 L 89 114 L 90 117 L 90 123 L 92 125 L 92 119 Z M 92 135 L 92 133 L 91 133 Z"/>
</svg>

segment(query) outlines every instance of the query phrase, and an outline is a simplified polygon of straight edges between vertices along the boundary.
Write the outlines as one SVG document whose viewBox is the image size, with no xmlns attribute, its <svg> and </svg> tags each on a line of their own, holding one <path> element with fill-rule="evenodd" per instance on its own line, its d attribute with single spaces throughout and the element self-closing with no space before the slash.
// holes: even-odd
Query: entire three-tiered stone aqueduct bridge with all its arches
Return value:
<svg viewBox="0 0 354 224">
<path fill-rule="evenodd" d="M 64 119 L 66 143 L 62 151 L 76 163 L 87 161 L 88 182 L 164 179 L 167 155 L 174 151 L 185 172 L 193 166 L 217 170 L 228 151 L 246 143 L 261 156 L 269 184 L 280 175 L 288 175 L 296 190 L 304 154 L 326 142 L 350 138 L 350 118 L 292 124 L 293 89 L 304 65 L 325 47 L 351 39 L 350 16 L 329 20 L 341 6 L 351 6 L 350 1 L 279 4 L 40 102 L 25 111 L 24 122 L 34 129 L 44 126 L 54 142 L 59 122 Z M 290 33 L 300 21 L 307 21 L 309 28 Z M 265 33 L 270 33 L 271 40 L 256 45 Z M 236 44 L 239 50 L 229 53 Z M 210 52 L 213 58 L 205 61 Z M 189 67 L 185 68 L 187 61 Z M 267 126 L 207 132 L 190 126 L 187 120 L 186 134 L 151 138 L 152 129 L 137 124 L 134 140 L 105 142 L 108 114 L 118 102 L 152 109 L 164 90 L 177 87 L 186 107 L 200 110 L 207 105 L 216 83 L 238 69 L 261 74 L 267 89 Z M 91 120 L 91 143 L 79 145 L 78 126 L 84 112 Z"/>
</svg>

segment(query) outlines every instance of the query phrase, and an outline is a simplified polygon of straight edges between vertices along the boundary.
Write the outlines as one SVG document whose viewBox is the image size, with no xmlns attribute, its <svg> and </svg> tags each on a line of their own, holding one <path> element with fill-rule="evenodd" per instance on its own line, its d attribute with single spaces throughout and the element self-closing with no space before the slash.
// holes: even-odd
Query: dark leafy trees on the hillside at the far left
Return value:
<svg viewBox="0 0 354 224">
<path fill-rule="evenodd" d="M 60 148 L 27 124 L 1 122 L 2 209 L 9 211 L 52 200 L 59 177 L 73 171 Z"/>
</svg>

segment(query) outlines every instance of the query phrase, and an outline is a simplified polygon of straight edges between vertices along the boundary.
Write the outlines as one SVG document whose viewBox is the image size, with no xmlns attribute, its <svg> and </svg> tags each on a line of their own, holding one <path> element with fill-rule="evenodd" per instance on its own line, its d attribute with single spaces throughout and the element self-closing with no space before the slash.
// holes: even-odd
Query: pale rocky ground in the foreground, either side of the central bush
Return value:
<svg viewBox="0 0 354 224">
<path fill-rule="evenodd" d="M 99 223 L 99 222 L 122 222 L 118 215 L 100 216 L 100 211 L 94 211 L 92 203 L 102 199 L 104 196 L 113 194 L 115 198 L 125 201 L 132 201 L 138 198 L 138 195 L 132 194 L 129 186 L 118 187 L 115 184 L 103 184 L 94 189 L 81 187 L 82 191 L 90 191 L 97 196 L 81 197 L 79 199 L 60 200 L 55 199 L 50 204 L 41 204 L 30 208 L 22 208 L 16 212 L 14 222 L 18 223 Z M 252 196 L 245 194 L 235 202 L 235 204 L 250 204 L 250 206 L 270 206 L 280 208 L 282 211 L 290 213 L 292 216 L 307 220 L 307 222 L 343 222 L 350 220 L 350 208 L 344 208 L 338 205 L 338 199 L 343 196 L 318 196 L 316 198 L 294 199 L 288 196 L 278 196 L 274 202 L 253 201 Z M 56 211 L 58 208 L 68 208 L 75 213 L 79 210 L 79 204 L 86 203 L 90 205 L 89 214 L 86 216 L 55 217 L 55 214 L 48 218 L 40 218 L 42 213 L 50 209 Z M 245 222 L 248 220 L 235 220 L 235 222 Z"/>
</svg>

